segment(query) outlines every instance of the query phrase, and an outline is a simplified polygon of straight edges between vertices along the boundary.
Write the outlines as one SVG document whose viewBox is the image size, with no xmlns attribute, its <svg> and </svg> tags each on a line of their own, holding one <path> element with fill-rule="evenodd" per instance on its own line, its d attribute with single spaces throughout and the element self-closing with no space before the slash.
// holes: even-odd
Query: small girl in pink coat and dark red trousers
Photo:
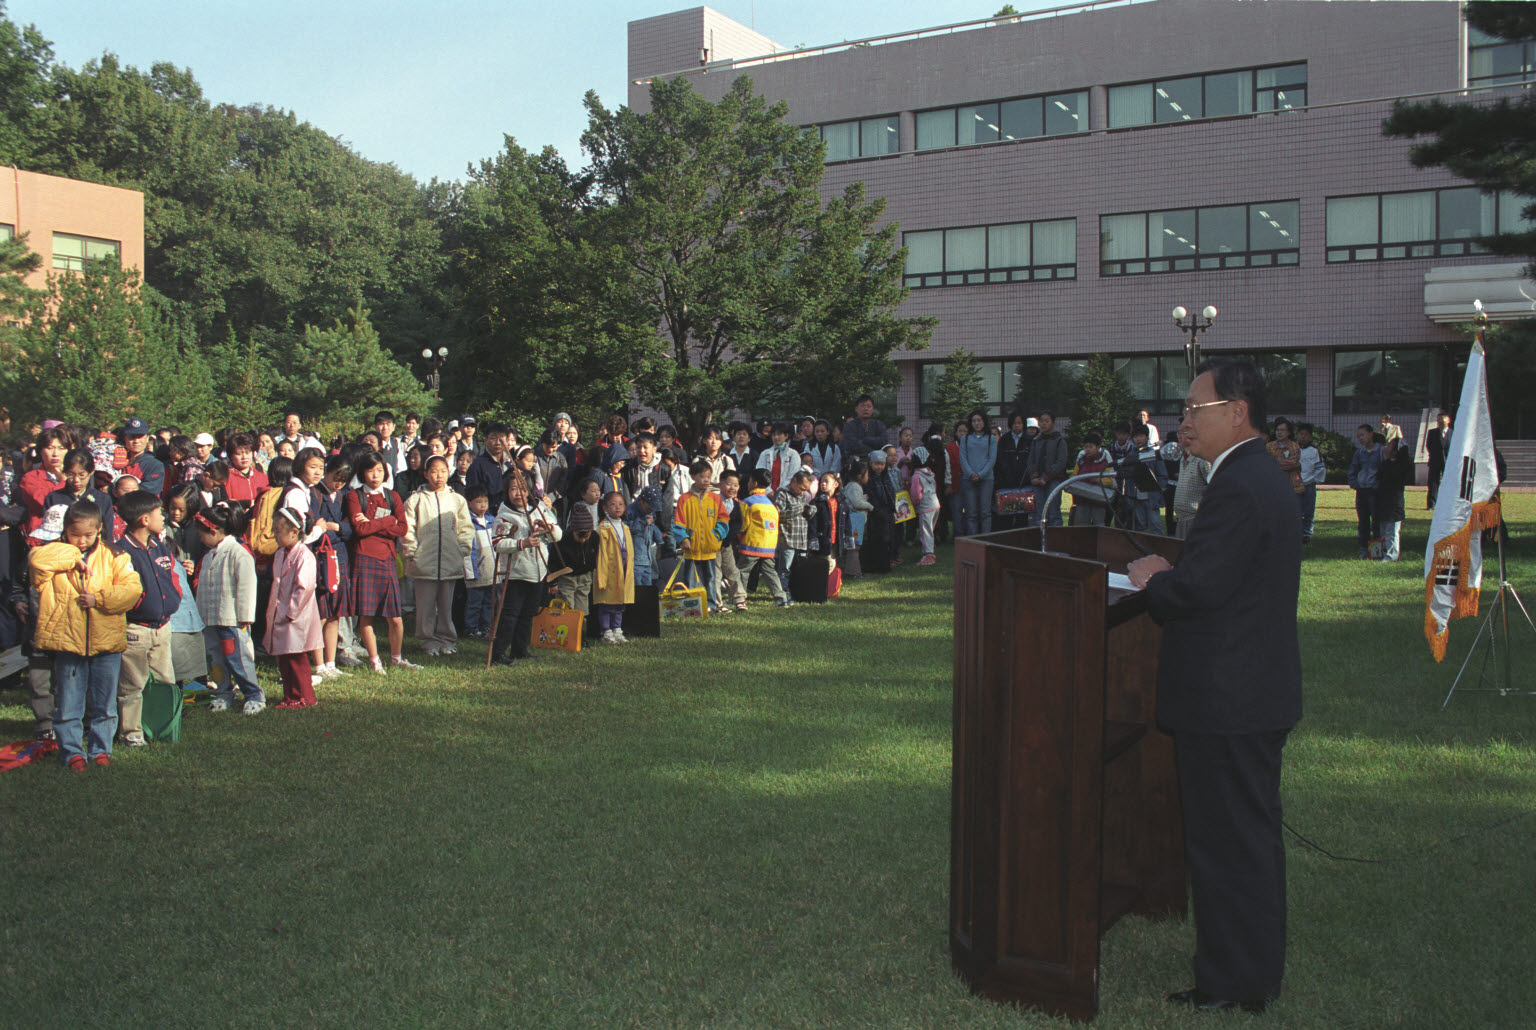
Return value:
<svg viewBox="0 0 1536 1030">
<path fill-rule="evenodd" d="M 278 553 L 272 557 L 272 594 L 267 597 L 263 645 L 278 660 L 283 677 L 278 708 L 310 708 L 316 703 L 309 652 L 321 646 L 323 635 L 315 605 L 315 554 L 304 546 L 312 527 L 307 511 L 278 508 L 272 516 Z"/>
</svg>

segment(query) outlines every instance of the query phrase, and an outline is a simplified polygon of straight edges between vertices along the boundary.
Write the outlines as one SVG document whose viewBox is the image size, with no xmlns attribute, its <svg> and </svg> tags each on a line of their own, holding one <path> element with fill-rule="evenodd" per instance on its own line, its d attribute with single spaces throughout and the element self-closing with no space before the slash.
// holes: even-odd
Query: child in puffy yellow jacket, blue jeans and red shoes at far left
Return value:
<svg viewBox="0 0 1536 1030">
<path fill-rule="evenodd" d="M 101 540 L 101 511 L 78 500 L 65 513 L 63 539 L 43 543 L 28 559 L 37 591 L 37 637 L 54 652 L 54 735 L 65 766 L 80 772 L 86 758 L 112 764 L 117 734 L 117 677 L 127 646 L 127 611 L 143 594 L 127 554 Z M 83 720 L 83 729 L 81 729 Z M 81 748 L 81 734 L 89 755 Z"/>
</svg>

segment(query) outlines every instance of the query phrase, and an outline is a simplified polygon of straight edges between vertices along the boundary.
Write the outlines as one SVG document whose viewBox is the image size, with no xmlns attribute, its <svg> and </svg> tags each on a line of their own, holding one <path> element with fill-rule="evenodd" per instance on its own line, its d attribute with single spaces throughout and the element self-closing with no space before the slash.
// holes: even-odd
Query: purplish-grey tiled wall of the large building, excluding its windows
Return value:
<svg viewBox="0 0 1536 1030">
<path fill-rule="evenodd" d="M 697 35 L 690 38 L 696 63 Z M 631 49 L 636 77 L 688 68 L 664 68 L 659 43 L 651 38 L 648 48 Z M 1425 316 L 1425 273 L 1498 261 L 1329 264 L 1324 252 L 1327 196 L 1465 184 L 1444 170 L 1415 169 L 1409 141 L 1381 135 L 1390 98 L 1462 87 L 1465 54 L 1453 2 L 1154 0 L 825 54 L 739 58 L 731 69 L 688 77 L 714 98 L 739 74 L 751 75 L 765 97 L 786 100 L 802 124 L 897 115 L 905 149 L 829 164 L 823 192 L 863 181 L 903 230 L 1077 220 L 1075 279 L 912 290 L 902 312 L 940 324 L 926 350 L 892 355 L 903 371 L 899 404 L 908 424 L 917 418 L 922 361 L 962 347 L 997 359 L 1167 355 L 1184 339 L 1169 310 L 1215 304 L 1221 315 L 1201 338 L 1207 353 L 1306 352 L 1306 411 L 1292 414 L 1347 430 L 1361 416 L 1332 410 L 1335 352 L 1461 341 Z M 1301 61 L 1306 111 L 1104 129 L 1109 86 Z M 917 111 L 1075 89 L 1091 94 L 1089 132 L 911 149 Z M 1289 200 L 1299 203 L 1296 266 L 1098 275 L 1101 215 Z M 1395 414 L 1412 433 L 1421 413 Z"/>
</svg>

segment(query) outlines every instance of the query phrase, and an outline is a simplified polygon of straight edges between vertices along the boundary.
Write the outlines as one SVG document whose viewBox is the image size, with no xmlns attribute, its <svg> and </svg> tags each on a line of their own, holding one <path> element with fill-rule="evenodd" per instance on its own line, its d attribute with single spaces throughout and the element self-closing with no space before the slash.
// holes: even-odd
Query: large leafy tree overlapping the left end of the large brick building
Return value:
<svg viewBox="0 0 1536 1030">
<path fill-rule="evenodd" d="M 820 140 L 750 78 L 719 103 L 679 77 L 651 84 L 650 114 L 596 94 L 587 111 L 584 224 L 622 255 L 610 302 L 660 327 L 636 387 L 685 442 L 733 408 L 846 404 L 894 381 L 892 347 L 926 341 L 932 322 L 894 313 L 905 255 L 894 226 L 874 230 L 883 201 L 852 187 L 823 204 Z"/>
</svg>

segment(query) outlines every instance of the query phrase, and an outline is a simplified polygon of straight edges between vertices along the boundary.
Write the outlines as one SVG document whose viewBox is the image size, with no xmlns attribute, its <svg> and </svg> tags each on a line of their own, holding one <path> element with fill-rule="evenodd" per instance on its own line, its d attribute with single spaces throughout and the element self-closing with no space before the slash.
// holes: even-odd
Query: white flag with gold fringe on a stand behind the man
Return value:
<svg viewBox="0 0 1536 1030">
<path fill-rule="evenodd" d="M 1498 490 L 1488 379 L 1482 344 L 1473 344 L 1456 428 L 1445 448 L 1445 477 L 1430 522 L 1430 546 L 1424 553 L 1424 635 L 1436 662 L 1445 659 L 1450 620 L 1478 614 L 1481 534 L 1499 525 Z"/>
</svg>

